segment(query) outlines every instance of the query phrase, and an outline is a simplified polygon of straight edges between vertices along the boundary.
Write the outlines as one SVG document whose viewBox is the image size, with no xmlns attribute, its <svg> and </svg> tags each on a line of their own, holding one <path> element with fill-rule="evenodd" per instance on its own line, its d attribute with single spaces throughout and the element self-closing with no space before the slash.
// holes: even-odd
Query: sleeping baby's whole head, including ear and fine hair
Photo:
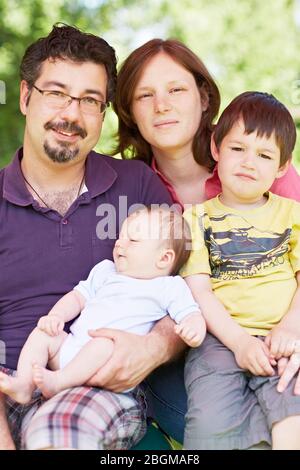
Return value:
<svg viewBox="0 0 300 470">
<path fill-rule="evenodd" d="M 164 208 L 145 208 L 123 223 L 113 251 L 118 273 L 139 279 L 176 275 L 187 261 L 190 230 L 183 217 Z"/>
</svg>

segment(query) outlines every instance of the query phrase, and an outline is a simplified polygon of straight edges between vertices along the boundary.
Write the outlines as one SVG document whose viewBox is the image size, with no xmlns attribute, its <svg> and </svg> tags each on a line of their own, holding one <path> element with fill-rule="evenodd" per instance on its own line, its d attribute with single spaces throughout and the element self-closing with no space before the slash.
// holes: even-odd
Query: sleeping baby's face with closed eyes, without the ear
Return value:
<svg viewBox="0 0 300 470">
<path fill-rule="evenodd" d="M 138 279 L 152 279 L 161 272 L 156 261 L 163 249 L 159 221 L 142 211 L 128 217 L 115 243 L 113 258 L 119 274 Z"/>
</svg>

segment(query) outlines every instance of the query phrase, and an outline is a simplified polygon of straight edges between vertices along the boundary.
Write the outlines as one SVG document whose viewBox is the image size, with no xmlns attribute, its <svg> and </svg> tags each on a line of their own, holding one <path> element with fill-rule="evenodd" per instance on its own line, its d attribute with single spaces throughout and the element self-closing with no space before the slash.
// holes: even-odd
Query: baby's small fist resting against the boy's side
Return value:
<svg viewBox="0 0 300 470">
<path fill-rule="evenodd" d="M 206 334 L 205 321 L 200 312 L 187 315 L 179 325 L 175 325 L 174 329 L 175 333 L 192 348 L 200 346 Z"/>
</svg>

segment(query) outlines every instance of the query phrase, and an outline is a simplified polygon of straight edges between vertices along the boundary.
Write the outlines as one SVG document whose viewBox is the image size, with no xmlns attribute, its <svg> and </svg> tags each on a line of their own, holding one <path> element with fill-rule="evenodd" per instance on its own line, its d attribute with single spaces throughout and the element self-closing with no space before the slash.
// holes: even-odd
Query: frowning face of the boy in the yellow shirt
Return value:
<svg viewBox="0 0 300 470">
<path fill-rule="evenodd" d="M 257 202 L 281 176 L 275 136 L 245 134 L 242 120 L 233 125 L 217 151 L 224 200 Z"/>
</svg>

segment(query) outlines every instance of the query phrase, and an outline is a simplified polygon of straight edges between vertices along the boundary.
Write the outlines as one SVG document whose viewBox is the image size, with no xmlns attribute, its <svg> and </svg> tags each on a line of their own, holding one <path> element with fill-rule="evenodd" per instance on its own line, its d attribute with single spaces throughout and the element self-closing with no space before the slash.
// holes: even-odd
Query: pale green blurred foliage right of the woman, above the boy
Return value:
<svg viewBox="0 0 300 470">
<path fill-rule="evenodd" d="M 165 0 L 169 35 L 203 59 L 220 86 L 222 108 L 246 90 L 273 93 L 300 128 L 299 0 Z M 300 164 L 300 139 L 295 152 Z"/>
</svg>

